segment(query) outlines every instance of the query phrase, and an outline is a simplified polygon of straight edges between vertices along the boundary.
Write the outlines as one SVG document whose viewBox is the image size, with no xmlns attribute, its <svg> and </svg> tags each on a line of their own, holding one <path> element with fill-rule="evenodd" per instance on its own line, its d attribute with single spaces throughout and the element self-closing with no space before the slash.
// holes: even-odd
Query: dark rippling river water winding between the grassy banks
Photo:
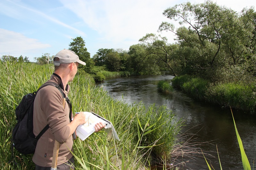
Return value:
<svg viewBox="0 0 256 170">
<path fill-rule="evenodd" d="M 178 119 L 186 120 L 186 126 L 181 132 L 196 134 L 192 137 L 191 143 L 208 142 L 194 147 L 200 147 L 204 153 L 215 157 L 205 155 L 215 170 L 220 169 L 216 145 L 222 169 L 243 169 L 230 108 L 195 101 L 179 90 L 174 90 L 173 94 L 157 91 L 157 83 L 160 80 L 171 83 L 172 78 L 170 75 L 110 78 L 99 86 L 103 86 L 114 99 L 129 104 L 142 102 L 146 106 L 153 103 L 156 106 L 166 105 Z M 256 115 L 245 114 L 239 110 L 232 111 L 245 153 L 253 168 L 253 161 L 256 158 Z M 183 157 L 178 161 L 188 161 L 181 169 L 208 169 L 202 155 L 196 154 L 193 158 Z"/>
</svg>

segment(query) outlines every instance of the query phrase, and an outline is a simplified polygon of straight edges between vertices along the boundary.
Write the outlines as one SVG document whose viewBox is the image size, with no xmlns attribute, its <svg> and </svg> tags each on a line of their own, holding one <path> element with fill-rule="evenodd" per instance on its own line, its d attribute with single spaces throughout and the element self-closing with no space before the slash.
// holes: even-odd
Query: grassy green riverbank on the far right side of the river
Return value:
<svg viewBox="0 0 256 170">
<path fill-rule="evenodd" d="M 172 79 L 172 86 L 181 89 L 196 100 L 256 113 L 255 83 L 212 83 L 194 76 L 182 75 Z"/>
</svg>

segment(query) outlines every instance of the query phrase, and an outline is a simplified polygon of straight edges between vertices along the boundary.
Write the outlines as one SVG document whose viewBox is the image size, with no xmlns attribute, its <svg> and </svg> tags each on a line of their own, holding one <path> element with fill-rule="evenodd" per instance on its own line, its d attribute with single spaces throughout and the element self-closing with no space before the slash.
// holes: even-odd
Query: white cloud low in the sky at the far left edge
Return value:
<svg viewBox="0 0 256 170">
<path fill-rule="evenodd" d="M 37 49 L 48 47 L 51 45 L 28 38 L 21 33 L 0 28 L 0 53 L 2 55 L 21 55 L 24 52 L 35 52 Z"/>
</svg>

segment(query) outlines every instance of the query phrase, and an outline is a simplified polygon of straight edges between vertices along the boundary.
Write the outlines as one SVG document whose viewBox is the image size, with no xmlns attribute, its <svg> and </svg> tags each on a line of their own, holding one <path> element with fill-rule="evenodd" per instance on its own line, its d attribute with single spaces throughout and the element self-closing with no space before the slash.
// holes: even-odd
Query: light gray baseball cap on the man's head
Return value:
<svg viewBox="0 0 256 170">
<path fill-rule="evenodd" d="M 63 49 L 60 52 L 58 52 L 55 56 L 60 59 L 60 61 L 53 61 L 54 65 L 59 66 L 60 64 L 66 64 L 66 63 L 79 63 L 82 65 L 86 65 L 83 61 L 79 60 L 78 55 L 74 51 L 71 51 L 69 49 Z"/>
</svg>

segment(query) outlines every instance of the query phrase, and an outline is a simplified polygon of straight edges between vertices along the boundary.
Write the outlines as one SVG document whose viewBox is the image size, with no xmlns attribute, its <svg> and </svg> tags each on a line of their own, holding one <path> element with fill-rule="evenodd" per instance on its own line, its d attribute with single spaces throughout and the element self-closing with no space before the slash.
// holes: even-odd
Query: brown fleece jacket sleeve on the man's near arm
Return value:
<svg viewBox="0 0 256 170">
<path fill-rule="evenodd" d="M 65 109 L 62 105 L 62 95 L 60 91 L 51 85 L 48 85 L 41 89 L 43 94 L 43 100 L 41 103 L 41 109 L 44 111 L 47 117 L 47 123 L 49 124 L 53 136 L 55 139 L 63 143 L 65 142 L 70 133 L 69 124 L 69 108 L 67 102 L 65 103 Z"/>
</svg>

